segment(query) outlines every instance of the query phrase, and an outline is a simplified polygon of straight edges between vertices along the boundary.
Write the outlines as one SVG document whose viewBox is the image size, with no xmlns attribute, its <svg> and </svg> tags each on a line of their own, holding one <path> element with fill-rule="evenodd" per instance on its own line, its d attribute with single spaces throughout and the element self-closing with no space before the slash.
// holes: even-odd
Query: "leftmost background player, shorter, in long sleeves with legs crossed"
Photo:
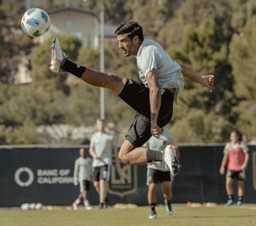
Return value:
<svg viewBox="0 0 256 226">
<path fill-rule="evenodd" d="M 74 166 L 74 184 L 80 185 L 80 194 L 73 202 L 73 209 L 78 210 L 78 205 L 81 201 L 85 205 L 85 210 L 91 210 L 92 207 L 87 199 L 87 193 L 90 189 L 92 178 L 92 160 L 86 158 L 85 149 L 79 150 L 80 157 L 75 160 Z"/>
</svg>

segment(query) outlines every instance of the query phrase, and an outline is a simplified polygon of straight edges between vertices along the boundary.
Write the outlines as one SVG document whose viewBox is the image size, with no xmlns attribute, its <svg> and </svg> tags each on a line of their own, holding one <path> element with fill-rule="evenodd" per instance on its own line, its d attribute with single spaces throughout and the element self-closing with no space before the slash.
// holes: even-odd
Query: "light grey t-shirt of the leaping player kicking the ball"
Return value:
<svg viewBox="0 0 256 226">
<path fill-rule="evenodd" d="M 175 100 L 183 90 L 181 66 L 171 59 L 159 43 L 144 39 L 137 53 L 139 79 L 147 86 L 146 75 L 153 69 L 159 73 L 160 88 L 176 88 Z"/>
</svg>

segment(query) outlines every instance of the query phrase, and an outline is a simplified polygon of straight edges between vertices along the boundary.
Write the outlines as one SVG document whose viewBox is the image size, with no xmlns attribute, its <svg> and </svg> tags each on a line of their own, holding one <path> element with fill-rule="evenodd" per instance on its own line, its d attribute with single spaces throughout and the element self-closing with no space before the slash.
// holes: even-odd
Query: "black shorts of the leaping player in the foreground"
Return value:
<svg viewBox="0 0 256 226">
<path fill-rule="evenodd" d="M 127 80 L 119 97 L 137 111 L 134 122 L 132 122 L 125 137 L 134 147 L 142 146 L 151 137 L 149 88 L 141 82 Z M 157 120 L 159 127 L 164 127 L 170 122 L 173 114 L 173 104 L 174 93 L 170 90 L 161 89 L 161 107 Z"/>
</svg>

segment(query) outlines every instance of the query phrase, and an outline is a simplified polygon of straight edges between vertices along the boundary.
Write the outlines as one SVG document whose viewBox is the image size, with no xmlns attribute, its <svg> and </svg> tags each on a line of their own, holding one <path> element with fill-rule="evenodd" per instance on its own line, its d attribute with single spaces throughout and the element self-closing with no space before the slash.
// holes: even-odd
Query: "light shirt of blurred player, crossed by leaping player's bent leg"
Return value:
<svg viewBox="0 0 256 226">
<path fill-rule="evenodd" d="M 151 136 L 151 138 L 146 141 L 144 146 L 154 151 L 164 151 L 167 144 L 178 146 L 176 138 L 169 131 L 164 130 L 160 138 L 161 139 L 157 139 L 156 137 Z M 153 163 L 147 165 L 147 168 L 154 168 L 159 171 L 169 171 L 168 168 L 165 168 L 165 163 L 162 161 L 154 161 Z"/>
</svg>

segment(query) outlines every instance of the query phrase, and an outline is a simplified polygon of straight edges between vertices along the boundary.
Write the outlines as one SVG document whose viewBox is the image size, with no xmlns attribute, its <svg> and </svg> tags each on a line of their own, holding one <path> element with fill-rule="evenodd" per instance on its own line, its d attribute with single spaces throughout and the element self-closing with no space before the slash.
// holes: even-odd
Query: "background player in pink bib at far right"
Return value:
<svg viewBox="0 0 256 226">
<path fill-rule="evenodd" d="M 233 198 L 233 180 L 238 181 L 238 202 L 237 205 L 242 205 L 242 198 L 245 194 L 245 169 L 249 160 L 248 147 L 242 141 L 239 141 L 238 131 L 230 133 L 230 142 L 225 144 L 223 161 L 220 166 L 220 174 L 225 173 L 225 166 L 228 163 L 226 174 L 225 188 L 228 194 L 226 206 L 234 204 Z"/>
</svg>

